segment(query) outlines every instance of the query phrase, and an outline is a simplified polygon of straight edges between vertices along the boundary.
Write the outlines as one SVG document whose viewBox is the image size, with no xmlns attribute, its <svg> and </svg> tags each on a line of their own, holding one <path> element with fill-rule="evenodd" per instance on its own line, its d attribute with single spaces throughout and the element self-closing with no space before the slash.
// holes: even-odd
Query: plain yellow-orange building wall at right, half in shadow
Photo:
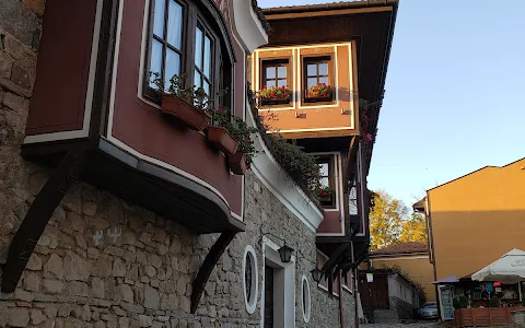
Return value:
<svg viewBox="0 0 525 328">
<path fill-rule="evenodd" d="M 438 279 L 474 273 L 525 249 L 525 159 L 429 190 Z"/>
</svg>

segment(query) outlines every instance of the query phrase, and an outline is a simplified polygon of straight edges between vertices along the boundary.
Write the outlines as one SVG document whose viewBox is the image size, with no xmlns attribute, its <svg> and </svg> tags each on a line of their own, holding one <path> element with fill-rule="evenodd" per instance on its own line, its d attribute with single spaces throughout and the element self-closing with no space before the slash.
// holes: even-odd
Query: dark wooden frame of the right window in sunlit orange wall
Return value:
<svg viewBox="0 0 525 328">
<path fill-rule="evenodd" d="M 307 90 L 308 90 L 308 73 L 307 68 L 308 63 L 320 63 L 327 62 L 328 63 L 328 85 L 332 87 L 332 92 L 330 96 L 326 99 L 315 99 L 315 98 L 307 98 Z M 334 54 L 316 54 L 315 56 L 302 55 L 301 56 L 301 104 L 303 106 L 318 106 L 319 104 L 334 104 L 335 102 L 335 92 L 337 92 L 336 85 L 336 78 L 335 78 L 335 63 L 334 63 Z M 317 74 L 317 81 L 319 75 Z"/>
</svg>

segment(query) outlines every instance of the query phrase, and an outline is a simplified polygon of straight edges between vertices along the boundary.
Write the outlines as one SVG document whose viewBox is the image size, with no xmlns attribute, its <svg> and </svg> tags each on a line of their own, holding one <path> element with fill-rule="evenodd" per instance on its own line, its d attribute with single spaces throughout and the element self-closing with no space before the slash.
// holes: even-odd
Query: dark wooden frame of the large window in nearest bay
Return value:
<svg viewBox="0 0 525 328">
<path fill-rule="evenodd" d="M 154 27 L 154 12 L 155 12 L 155 0 L 148 0 L 150 2 L 150 10 L 148 13 L 148 35 L 145 36 L 148 38 L 147 40 L 147 48 L 145 48 L 145 58 L 144 58 L 144 72 L 143 72 L 143 83 L 142 83 L 142 96 L 147 98 L 148 101 L 153 102 L 154 104 L 161 105 L 162 103 L 162 96 L 161 94 L 156 91 L 156 89 L 152 89 L 150 86 L 150 71 L 151 71 L 151 56 L 152 56 L 152 45 L 153 45 L 153 39 L 155 39 L 155 36 L 153 34 L 153 27 Z M 192 0 L 164 0 L 167 4 L 164 13 L 164 34 L 165 37 L 167 38 L 167 17 L 168 17 L 168 4 L 170 1 L 175 1 L 180 7 L 183 8 L 183 23 L 182 23 L 182 47 L 180 47 L 180 73 L 186 73 L 186 84 L 194 85 L 195 81 L 195 52 L 196 52 L 196 46 L 195 46 L 195 40 L 196 40 L 196 32 L 197 32 L 197 26 L 202 26 L 202 30 L 207 35 L 210 36 L 213 46 L 211 48 L 211 54 L 210 54 L 210 59 L 212 61 L 211 63 L 211 69 L 210 69 L 210 99 L 211 101 L 218 101 L 219 97 L 217 96 L 217 90 L 220 84 L 224 85 L 228 87 L 229 93 L 228 95 L 223 96 L 222 99 L 224 99 L 225 104 L 222 105 L 230 105 L 232 104 L 232 85 L 234 83 L 234 74 L 233 74 L 233 65 L 234 65 L 234 58 L 231 58 L 230 54 L 230 48 L 228 50 L 224 48 L 223 49 L 223 43 L 226 43 L 229 40 L 223 40 L 222 39 L 222 34 L 219 32 L 215 32 L 212 27 L 211 24 L 209 23 L 210 19 L 213 19 L 213 13 L 210 13 L 209 15 L 205 14 L 202 10 L 203 8 L 200 3 L 200 1 L 192 1 Z M 218 23 L 219 24 L 219 23 Z M 222 28 L 219 26 L 219 28 Z M 203 34 L 205 35 L 205 34 Z M 189 42 L 191 40 L 191 42 Z M 164 46 L 166 46 L 166 43 Z M 228 47 L 228 45 L 226 45 Z M 162 57 L 162 74 L 164 75 L 164 67 L 165 67 L 165 61 L 166 61 L 166 50 L 163 48 L 163 57 Z M 225 74 L 221 75 L 221 68 L 219 67 L 220 63 L 222 62 L 222 67 L 224 70 L 229 70 L 225 72 Z M 165 77 L 163 77 L 165 78 Z M 229 81 L 222 81 L 221 79 L 228 79 Z"/>
</svg>

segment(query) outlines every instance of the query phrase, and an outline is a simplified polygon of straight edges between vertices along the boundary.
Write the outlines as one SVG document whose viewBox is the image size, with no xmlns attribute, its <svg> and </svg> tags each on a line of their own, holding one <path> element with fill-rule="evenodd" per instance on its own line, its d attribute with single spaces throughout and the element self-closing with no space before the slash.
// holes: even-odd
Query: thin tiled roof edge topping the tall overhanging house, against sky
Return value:
<svg viewBox="0 0 525 328">
<path fill-rule="evenodd" d="M 355 0 L 355 1 L 339 1 L 322 4 L 303 4 L 303 5 L 287 5 L 287 7 L 273 7 L 264 8 L 264 14 L 284 13 L 284 12 L 305 12 L 305 11 L 319 11 L 319 10 L 335 10 L 335 9 L 349 9 L 385 4 L 397 4 L 397 0 Z"/>
</svg>

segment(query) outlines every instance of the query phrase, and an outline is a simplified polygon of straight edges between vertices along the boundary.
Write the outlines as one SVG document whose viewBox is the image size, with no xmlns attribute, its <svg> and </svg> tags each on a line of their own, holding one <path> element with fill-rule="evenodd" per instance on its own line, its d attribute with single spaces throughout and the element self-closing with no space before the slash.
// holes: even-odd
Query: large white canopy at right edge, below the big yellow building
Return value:
<svg viewBox="0 0 525 328">
<path fill-rule="evenodd" d="M 517 283 L 525 279 L 525 251 L 514 248 L 499 260 L 472 274 L 477 281 Z"/>
</svg>

